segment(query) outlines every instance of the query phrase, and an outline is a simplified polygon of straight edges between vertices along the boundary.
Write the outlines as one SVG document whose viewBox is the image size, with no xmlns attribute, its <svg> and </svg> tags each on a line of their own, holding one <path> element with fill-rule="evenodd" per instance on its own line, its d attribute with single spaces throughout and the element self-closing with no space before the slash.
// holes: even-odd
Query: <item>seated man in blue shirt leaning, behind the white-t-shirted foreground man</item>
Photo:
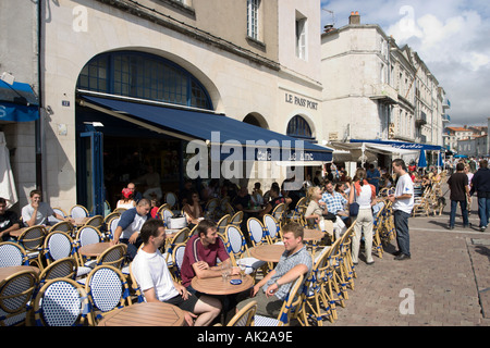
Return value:
<svg viewBox="0 0 490 348">
<path fill-rule="evenodd" d="M 143 198 L 137 206 L 132 209 L 127 209 L 121 214 L 121 220 L 118 223 L 118 227 L 114 231 L 114 238 L 111 240 L 111 245 L 115 246 L 119 243 L 127 245 L 127 254 L 130 260 L 133 260 L 138 251 L 143 240 L 139 237 L 143 224 L 151 219 L 150 214 L 151 204 L 149 200 Z"/>
</svg>

